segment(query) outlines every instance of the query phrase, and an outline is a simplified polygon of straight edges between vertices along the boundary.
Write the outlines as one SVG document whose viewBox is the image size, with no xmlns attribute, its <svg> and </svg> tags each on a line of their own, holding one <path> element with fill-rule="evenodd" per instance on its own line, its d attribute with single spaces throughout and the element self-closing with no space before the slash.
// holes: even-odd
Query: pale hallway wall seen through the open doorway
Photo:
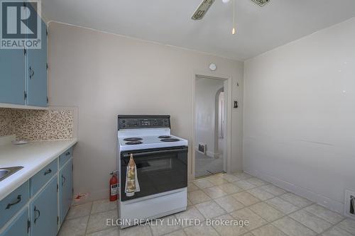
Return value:
<svg viewBox="0 0 355 236">
<path fill-rule="evenodd" d="M 218 150 L 215 149 L 215 115 L 216 95 L 224 86 L 222 79 L 196 79 L 196 145 L 200 142 L 207 145 L 207 155 L 215 157 Z M 218 140 L 218 137 L 217 137 Z"/>
</svg>

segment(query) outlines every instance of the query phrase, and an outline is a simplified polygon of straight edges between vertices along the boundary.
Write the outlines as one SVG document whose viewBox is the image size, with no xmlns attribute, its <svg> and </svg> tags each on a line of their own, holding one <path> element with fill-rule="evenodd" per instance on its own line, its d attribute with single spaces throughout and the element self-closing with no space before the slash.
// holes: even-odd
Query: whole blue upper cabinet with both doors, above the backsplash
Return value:
<svg viewBox="0 0 355 236">
<path fill-rule="evenodd" d="M 26 4 L 31 14 L 37 11 Z M 47 26 L 37 17 L 26 26 L 38 26 L 40 49 L 0 49 L 0 103 L 46 107 L 47 103 Z M 38 27 L 36 27 L 38 28 Z M 28 38 L 30 36 L 27 36 Z M 26 38 L 26 39 L 28 39 Z"/>
</svg>

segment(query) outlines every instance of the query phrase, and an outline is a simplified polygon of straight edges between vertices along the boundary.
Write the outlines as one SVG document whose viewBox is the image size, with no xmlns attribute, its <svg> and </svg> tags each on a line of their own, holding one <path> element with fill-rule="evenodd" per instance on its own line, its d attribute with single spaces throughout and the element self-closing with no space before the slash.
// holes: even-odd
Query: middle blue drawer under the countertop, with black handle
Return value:
<svg viewBox="0 0 355 236">
<path fill-rule="evenodd" d="M 40 170 L 35 176 L 30 179 L 31 182 L 31 197 L 47 183 L 52 176 L 55 176 L 58 171 L 58 159 L 48 164 L 46 167 Z"/>
</svg>

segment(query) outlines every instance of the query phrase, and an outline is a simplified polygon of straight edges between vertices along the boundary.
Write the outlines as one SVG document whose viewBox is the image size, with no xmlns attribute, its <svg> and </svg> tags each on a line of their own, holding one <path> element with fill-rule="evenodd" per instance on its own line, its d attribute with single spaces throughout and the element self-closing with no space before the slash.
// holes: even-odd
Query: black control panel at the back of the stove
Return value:
<svg viewBox="0 0 355 236">
<path fill-rule="evenodd" d="M 138 128 L 170 128 L 170 116 L 119 116 L 119 130 Z"/>
</svg>

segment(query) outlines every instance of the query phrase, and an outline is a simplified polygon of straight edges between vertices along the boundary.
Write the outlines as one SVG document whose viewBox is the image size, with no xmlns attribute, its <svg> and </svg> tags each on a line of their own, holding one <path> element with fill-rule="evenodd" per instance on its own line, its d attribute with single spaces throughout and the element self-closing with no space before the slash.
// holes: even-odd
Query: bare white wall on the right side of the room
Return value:
<svg viewBox="0 0 355 236">
<path fill-rule="evenodd" d="M 342 212 L 355 190 L 355 18 L 245 63 L 244 169 Z"/>
</svg>

